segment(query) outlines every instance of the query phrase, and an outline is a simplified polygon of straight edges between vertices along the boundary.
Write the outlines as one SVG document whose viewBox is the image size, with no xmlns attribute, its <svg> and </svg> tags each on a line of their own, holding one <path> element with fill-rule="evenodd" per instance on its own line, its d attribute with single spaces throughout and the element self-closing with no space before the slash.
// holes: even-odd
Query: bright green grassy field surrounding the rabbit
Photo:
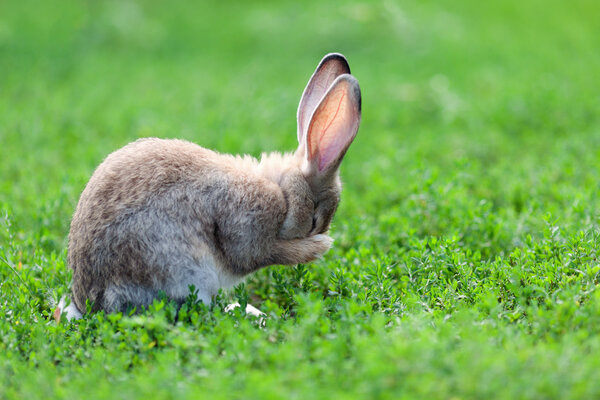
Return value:
<svg viewBox="0 0 600 400">
<path fill-rule="evenodd" d="M 0 399 L 600 397 L 597 2 L 198 3 L 0 2 Z M 363 92 L 333 250 L 54 322 L 108 153 L 292 150 L 331 51 Z"/>
</svg>

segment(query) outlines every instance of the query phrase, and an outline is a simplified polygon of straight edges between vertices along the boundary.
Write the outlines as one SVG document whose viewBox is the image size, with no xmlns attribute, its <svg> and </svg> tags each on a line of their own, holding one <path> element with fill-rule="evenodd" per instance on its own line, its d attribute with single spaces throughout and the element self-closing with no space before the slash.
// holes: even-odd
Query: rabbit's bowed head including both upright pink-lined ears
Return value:
<svg viewBox="0 0 600 400">
<path fill-rule="evenodd" d="M 360 87 L 348 62 L 341 54 L 326 55 L 298 106 L 298 149 L 279 161 L 284 168 L 278 181 L 288 207 L 281 238 L 329 229 L 340 199 L 338 169 L 356 136 L 360 115 Z M 264 159 L 267 164 L 268 160 Z"/>
</svg>

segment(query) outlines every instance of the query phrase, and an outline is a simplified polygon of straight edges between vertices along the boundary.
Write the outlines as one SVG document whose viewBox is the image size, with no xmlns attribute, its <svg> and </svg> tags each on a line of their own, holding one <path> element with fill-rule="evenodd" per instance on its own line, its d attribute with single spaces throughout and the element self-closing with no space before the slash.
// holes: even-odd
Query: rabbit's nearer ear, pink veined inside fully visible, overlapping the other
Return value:
<svg viewBox="0 0 600 400">
<path fill-rule="evenodd" d="M 339 166 L 360 124 L 361 97 L 352 75 L 337 77 L 313 113 L 306 136 L 306 159 L 317 175 Z"/>
</svg>

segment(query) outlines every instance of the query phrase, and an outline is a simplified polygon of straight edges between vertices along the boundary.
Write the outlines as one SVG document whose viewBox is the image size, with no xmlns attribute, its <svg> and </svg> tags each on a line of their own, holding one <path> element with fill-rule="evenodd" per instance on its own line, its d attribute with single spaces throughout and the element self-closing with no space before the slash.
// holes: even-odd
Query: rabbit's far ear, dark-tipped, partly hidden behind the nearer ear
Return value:
<svg viewBox="0 0 600 400">
<path fill-rule="evenodd" d="M 306 137 L 310 117 L 319 105 L 319 101 L 329 89 L 335 78 L 342 74 L 349 74 L 350 66 L 346 58 L 339 53 L 327 54 L 308 81 L 300 104 L 298 105 L 298 142 L 302 146 Z"/>
</svg>

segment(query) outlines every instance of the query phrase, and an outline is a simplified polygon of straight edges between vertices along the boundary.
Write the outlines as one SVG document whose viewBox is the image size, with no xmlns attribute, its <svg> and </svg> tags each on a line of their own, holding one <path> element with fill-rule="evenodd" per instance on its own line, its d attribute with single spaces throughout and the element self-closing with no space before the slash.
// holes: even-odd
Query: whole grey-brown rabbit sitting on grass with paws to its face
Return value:
<svg viewBox="0 0 600 400">
<path fill-rule="evenodd" d="M 71 303 L 59 308 L 68 319 L 80 318 L 86 302 L 124 312 L 159 292 L 181 303 L 191 285 L 209 304 L 260 268 L 319 258 L 332 245 L 338 169 L 360 119 L 358 81 L 346 58 L 331 53 L 301 97 L 294 153 L 257 160 L 145 138 L 110 154 L 71 222 Z"/>
</svg>

